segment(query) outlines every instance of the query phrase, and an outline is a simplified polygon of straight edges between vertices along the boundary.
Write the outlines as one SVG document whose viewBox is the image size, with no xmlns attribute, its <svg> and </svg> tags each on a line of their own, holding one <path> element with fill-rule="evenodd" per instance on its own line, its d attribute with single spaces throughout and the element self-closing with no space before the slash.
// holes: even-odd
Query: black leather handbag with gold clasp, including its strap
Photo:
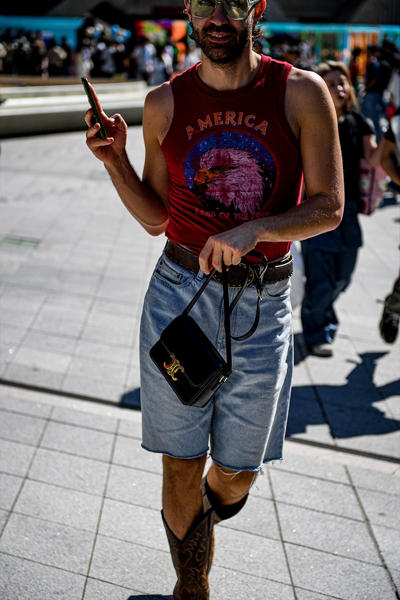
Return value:
<svg viewBox="0 0 400 600">
<path fill-rule="evenodd" d="M 158 370 L 163 374 L 182 404 L 186 406 L 203 407 L 209 403 L 212 396 L 232 372 L 231 340 L 246 340 L 257 329 L 263 292 L 261 282 L 267 268 L 267 259 L 256 250 L 252 250 L 248 254 L 261 259 L 263 265 L 257 263 L 255 266 L 243 257 L 242 264 L 246 267 L 245 281 L 231 304 L 229 304 L 228 297 L 227 269 L 222 262 L 226 361 L 189 314 L 216 274 L 215 269 L 207 276 L 199 292 L 185 310 L 161 332 L 160 340 L 150 350 L 152 361 L 157 365 Z M 255 278 L 254 287 L 258 294 L 254 323 L 248 332 L 233 337 L 230 332 L 230 315 L 249 282 L 250 274 Z"/>
</svg>

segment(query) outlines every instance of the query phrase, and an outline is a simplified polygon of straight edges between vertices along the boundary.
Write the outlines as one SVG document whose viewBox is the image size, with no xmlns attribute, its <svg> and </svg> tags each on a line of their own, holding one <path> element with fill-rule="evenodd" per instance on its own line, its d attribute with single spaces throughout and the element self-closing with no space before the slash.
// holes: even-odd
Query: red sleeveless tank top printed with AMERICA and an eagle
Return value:
<svg viewBox="0 0 400 600">
<path fill-rule="evenodd" d="M 291 65 L 261 56 L 254 79 L 216 91 L 197 65 L 172 79 L 173 119 L 161 149 L 169 169 L 166 236 L 199 254 L 210 235 L 300 202 L 299 145 L 284 114 Z M 268 260 L 291 242 L 260 242 Z"/>
</svg>

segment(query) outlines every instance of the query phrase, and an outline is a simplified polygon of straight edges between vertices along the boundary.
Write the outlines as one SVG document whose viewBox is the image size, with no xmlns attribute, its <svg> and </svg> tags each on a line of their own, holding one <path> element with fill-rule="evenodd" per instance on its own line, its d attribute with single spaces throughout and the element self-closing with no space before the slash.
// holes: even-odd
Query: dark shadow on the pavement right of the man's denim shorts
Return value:
<svg viewBox="0 0 400 600">
<path fill-rule="evenodd" d="M 296 344 L 297 352 L 301 348 Z M 387 418 L 373 404 L 399 394 L 400 380 L 375 386 L 373 382 L 377 361 L 384 352 L 360 355 L 344 385 L 293 386 L 287 425 L 287 436 L 305 433 L 308 425 L 330 427 L 336 439 L 381 435 L 400 429 L 400 421 Z M 301 356 L 297 357 L 301 359 Z"/>
</svg>

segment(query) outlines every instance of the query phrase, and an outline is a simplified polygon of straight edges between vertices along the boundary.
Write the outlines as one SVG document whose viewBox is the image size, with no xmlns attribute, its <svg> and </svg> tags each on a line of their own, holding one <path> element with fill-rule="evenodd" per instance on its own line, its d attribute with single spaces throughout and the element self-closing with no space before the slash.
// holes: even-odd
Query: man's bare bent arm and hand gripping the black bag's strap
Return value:
<svg viewBox="0 0 400 600">
<path fill-rule="evenodd" d="M 332 98 L 323 80 L 306 71 L 293 70 L 287 85 L 285 110 L 299 139 L 307 199 L 280 215 L 247 221 L 239 227 L 212 236 L 200 254 L 200 266 L 208 273 L 221 271 L 222 255 L 227 265 L 258 242 L 294 241 L 335 229 L 344 205 L 342 157 Z"/>
</svg>

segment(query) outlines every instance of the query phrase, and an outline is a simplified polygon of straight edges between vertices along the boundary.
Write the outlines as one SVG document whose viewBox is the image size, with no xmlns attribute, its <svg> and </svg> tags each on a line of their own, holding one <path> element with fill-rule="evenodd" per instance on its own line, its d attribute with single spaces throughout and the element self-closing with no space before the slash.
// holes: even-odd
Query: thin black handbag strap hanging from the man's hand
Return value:
<svg viewBox="0 0 400 600">
<path fill-rule="evenodd" d="M 239 292 L 237 292 L 237 294 L 234 297 L 231 304 L 229 304 L 227 268 L 225 266 L 224 261 L 222 260 L 222 294 L 223 294 L 223 301 L 224 301 L 225 345 L 226 345 L 227 365 L 228 365 L 229 369 L 232 368 L 231 340 L 236 340 L 236 341 L 247 340 L 249 337 L 251 337 L 252 334 L 254 334 L 255 330 L 257 329 L 258 322 L 260 321 L 260 302 L 263 298 L 263 275 L 267 269 L 268 261 L 267 261 L 266 257 L 264 256 L 264 254 L 261 254 L 257 250 L 249 251 L 248 255 L 257 257 L 258 259 L 261 259 L 261 261 L 263 262 L 263 265 L 261 266 L 261 263 L 257 263 L 257 268 L 254 268 L 255 265 L 250 263 L 246 259 L 246 257 L 244 257 L 244 256 L 242 257 L 241 262 L 246 266 L 246 277 L 245 277 L 245 281 L 243 281 L 242 287 L 240 287 Z M 245 288 L 248 284 L 249 276 L 250 276 L 250 269 L 252 269 L 252 273 L 255 278 L 255 287 L 256 287 L 257 293 L 258 293 L 257 308 L 255 310 L 255 318 L 254 318 L 254 322 L 253 322 L 251 328 L 245 334 L 234 336 L 234 335 L 231 335 L 231 332 L 230 332 L 230 316 L 231 316 L 231 313 L 232 313 L 234 307 L 236 306 L 237 302 L 239 302 L 239 299 L 242 296 L 242 294 L 245 291 Z M 204 281 L 204 283 L 200 287 L 199 291 L 193 296 L 193 298 L 191 299 L 191 301 L 189 302 L 189 304 L 187 305 L 185 310 L 182 312 L 182 314 L 188 314 L 191 311 L 191 309 L 194 307 L 196 302 L 199 300 L 201 294 L 206 289 L 207 285 L 212 280 L 213 276 L 215 275 L 215 272 L 216 272 L 216 269 L 212 269 L 210 274 L 207 275 L 206 281 Z"/>
</svg>

